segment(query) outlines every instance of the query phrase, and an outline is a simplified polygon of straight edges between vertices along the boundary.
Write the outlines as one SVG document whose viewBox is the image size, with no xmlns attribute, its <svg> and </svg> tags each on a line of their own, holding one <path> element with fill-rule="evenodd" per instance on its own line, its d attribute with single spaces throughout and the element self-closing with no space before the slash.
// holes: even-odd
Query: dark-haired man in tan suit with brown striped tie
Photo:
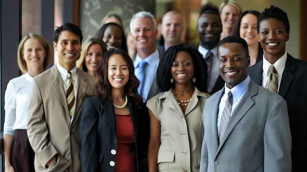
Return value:
<svg viewBox="0 0 307 172">
<path fill-rule="evenodd" d="M 33 78 L 27 134 L 35 152 L 36 172 L 82 172 L 79 124 L 83 96 L 93 94 L 95 82 L 94 77 L 76 67 L 82 38 L 77 25 L 67 23 L 57 27 L 53 32 L 53 48 L 58 63 Z M 68 80 L 73 86 L 66 85 Z M 73 90 L 70 100 L 66 98 L 67 88 Z"/>
</svg>

